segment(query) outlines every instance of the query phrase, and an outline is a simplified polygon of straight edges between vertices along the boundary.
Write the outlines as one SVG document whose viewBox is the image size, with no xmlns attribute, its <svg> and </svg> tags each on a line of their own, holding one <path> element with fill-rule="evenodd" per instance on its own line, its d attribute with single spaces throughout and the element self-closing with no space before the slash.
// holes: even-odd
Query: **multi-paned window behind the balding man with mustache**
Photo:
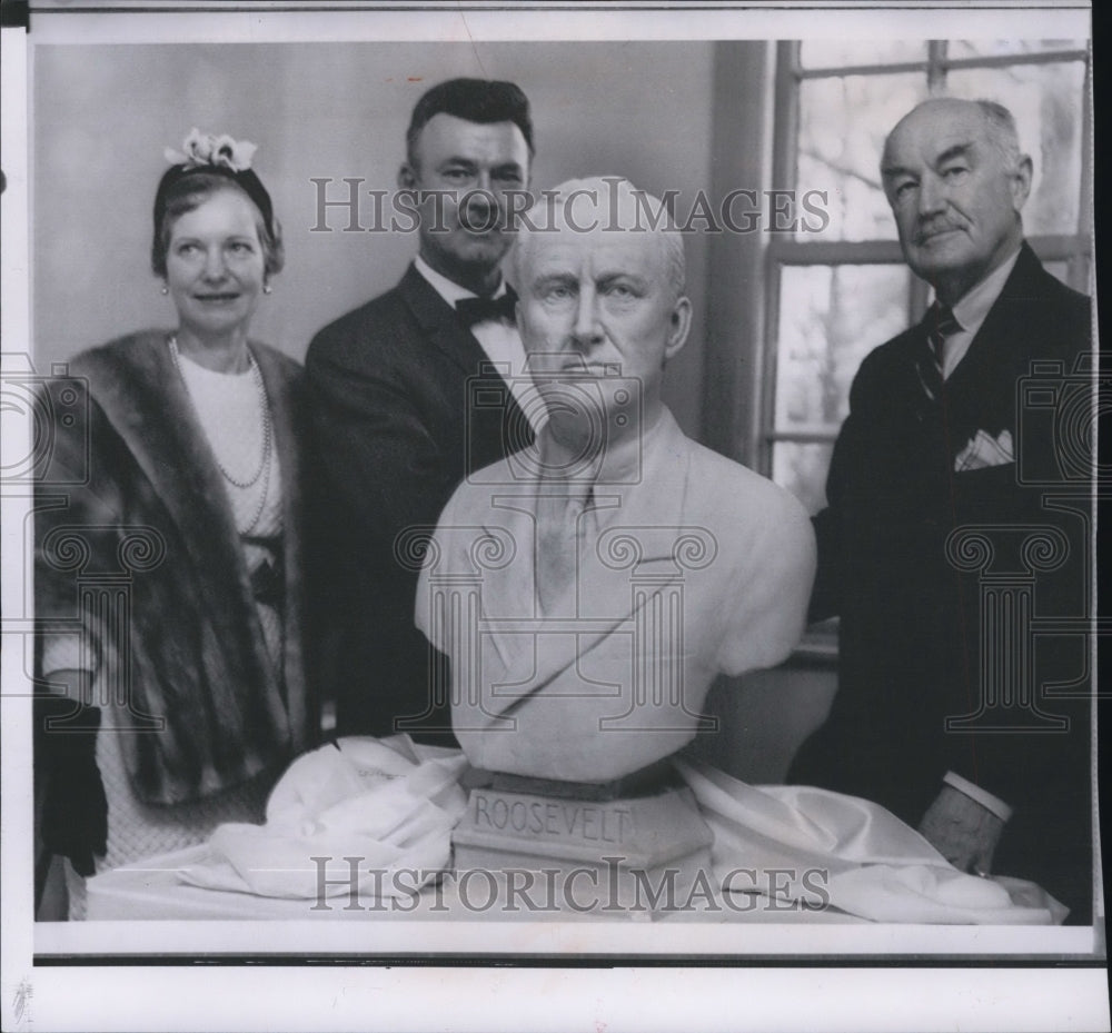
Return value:
<svg viewBox="0 0 1112 1033">
<path fill-rule="evenodd" d="M 828 224 L 768 245 L 756 463 L 812 511 L 861 360 L 922 318 L 877 170 L 884 137 L 935 95 L 991 99 L 1034 161 L 1024 231 L 1050 271 L 1089 284 L 1090 56 L 1078 40 L 807 40 L 778 44 L 774 185 L 826 193 Z M 815 220 L 812 218 L 811 225 Z"/>
</svg>

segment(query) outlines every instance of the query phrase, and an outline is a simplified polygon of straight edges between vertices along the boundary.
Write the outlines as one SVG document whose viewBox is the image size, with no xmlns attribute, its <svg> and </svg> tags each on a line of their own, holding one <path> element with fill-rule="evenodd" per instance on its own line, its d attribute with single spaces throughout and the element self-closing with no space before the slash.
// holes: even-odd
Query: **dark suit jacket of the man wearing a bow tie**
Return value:
<svg viewBox="0 0 1112 1033">
<path fill-rule="evenodd" d="M 444 659 L 414 625 L 418 570 L 398 536 L 431 530 L 466 475 L 532 441 L 504 381 L 469 383 L 488 361 L 413 266 L 309 345 L 318 587 L 332 625 L 322 664 L 340 734 L 455 742 Z"/>
</svg>

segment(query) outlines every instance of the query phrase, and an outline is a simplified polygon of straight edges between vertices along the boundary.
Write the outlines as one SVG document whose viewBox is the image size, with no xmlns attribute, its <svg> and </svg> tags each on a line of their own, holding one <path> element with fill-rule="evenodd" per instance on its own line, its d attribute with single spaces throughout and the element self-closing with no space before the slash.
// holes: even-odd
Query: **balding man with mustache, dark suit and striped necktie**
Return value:
<svg viewBox="0 0 1112 1033">
<path fill-rule="evenodd" d="M 982 576 L 1019 585 L 1026 572 L 1015 597 L 1034 614 L 1085 614 L 1084 515 L 1025 483 L 1060 457 L 1017 398 L 1040 370 L 1048 397 L 1069 390 L 1089 300 L 1023 239 L 1032 163 L 1000 105 L 925 101 L 892 130 L 881 172 L 907 265 L 936 300 L 851 390 L 812 599 L 813 618 L 841 616 L 838 692 L 790 779 L 877 799 L 957 866 L 1034 878 L 1088 921 L 1090 701 L 1062 692 L 1086 687 L 1083 636 L 1034 640 L 1013 622 L 1017 640 L 1001 638 L 1007 614 L 982 606 L 953 535 L 976 528 L 994 550 Z M 1056 569 L 1037 570 L 1032 535 L 1064 548 Z"/>
</svg>

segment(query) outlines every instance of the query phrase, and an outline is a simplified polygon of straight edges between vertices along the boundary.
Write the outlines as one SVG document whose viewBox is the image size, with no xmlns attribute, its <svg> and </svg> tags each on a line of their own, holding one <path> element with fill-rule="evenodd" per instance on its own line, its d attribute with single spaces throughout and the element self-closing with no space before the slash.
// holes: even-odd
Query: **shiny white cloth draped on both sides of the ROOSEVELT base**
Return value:
<svg viewBox="0 0 1112 1033">
<path fill-rule="evenodd" d="M 179 870 L 195 886 L 319 900 L 409 894 L 450 866 L 451 830 L 467 805 L 464 754 L 405 735 L 344 738 L 297 759 L 275 787 L 265 825 L 220 826 L 205 861 Z M 805 880 L 763 873 L 823 871 L 825 903 L 875 922 L 1050 925 L 1065 908 L 1033 883 L 954 868 L 878 804 L 810 786 L 751 786 L 676 762 L 714 833 L 723 893 L 775 892 L 814 903 Z M 314 861 L 312 858 L 327 858 Z M 406 878 L 391 877 L 405 870 Z M 751 873 L 746 878 L 744 873 Z"/>
</svg>

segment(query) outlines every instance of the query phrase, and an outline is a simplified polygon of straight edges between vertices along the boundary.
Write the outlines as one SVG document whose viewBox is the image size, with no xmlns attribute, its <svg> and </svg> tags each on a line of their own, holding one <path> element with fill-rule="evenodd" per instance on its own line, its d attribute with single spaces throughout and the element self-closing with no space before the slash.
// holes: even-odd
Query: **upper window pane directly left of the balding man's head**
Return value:
<svg viewBox="0 0 1112 1033">
<path fill-rule="evenodd" d="M 881 149 L 892 127 L 926 96 L 925 75 L 847 76 L 800 83 L 796 188 L 801 195 L 827 192 L 830 225 L 823 230 L 824 240 L 895 238 L 881 187 Z"/>
</svg>

